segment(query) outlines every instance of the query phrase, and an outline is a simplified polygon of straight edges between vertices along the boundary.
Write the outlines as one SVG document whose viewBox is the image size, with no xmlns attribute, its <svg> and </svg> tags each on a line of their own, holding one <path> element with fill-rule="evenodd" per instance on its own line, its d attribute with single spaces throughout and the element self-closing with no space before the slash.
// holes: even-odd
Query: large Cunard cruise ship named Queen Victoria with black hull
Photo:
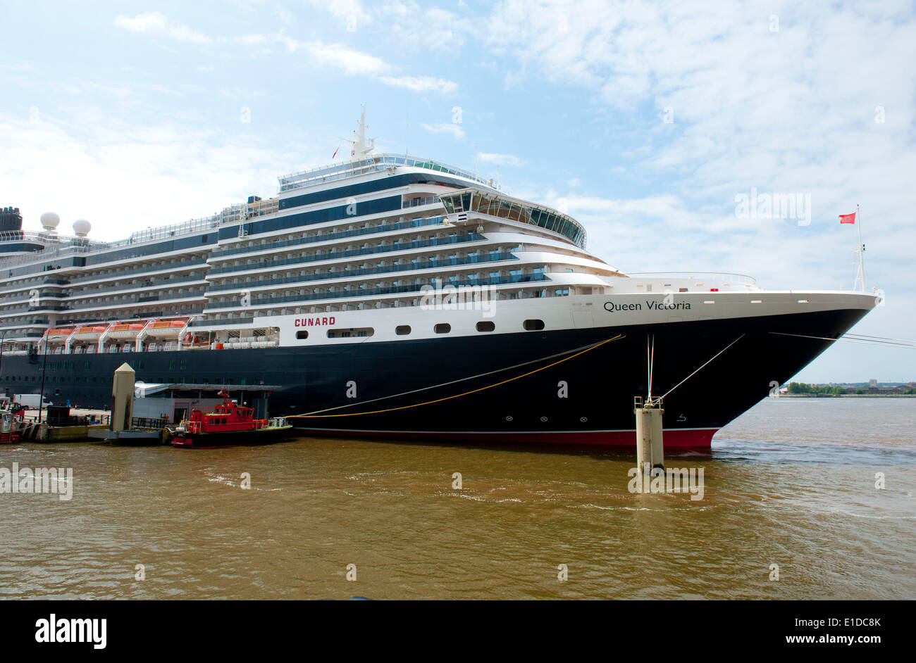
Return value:
<svg viewBox="0 0 916 663">
<path fill-rule="evenodd" d="M 0 218 L 0 388 L 110 406 L 122 363 L 163 389 L 273 385 L 303 435 L 708 447 L 876 305 L 725 273 L 624 273 L 582 224 L 492 180 L 377 154 L 279 177 L 206 219 L 89 238 Z M 191 385 L 191 387 L 189 387 Z"/>
</svg>

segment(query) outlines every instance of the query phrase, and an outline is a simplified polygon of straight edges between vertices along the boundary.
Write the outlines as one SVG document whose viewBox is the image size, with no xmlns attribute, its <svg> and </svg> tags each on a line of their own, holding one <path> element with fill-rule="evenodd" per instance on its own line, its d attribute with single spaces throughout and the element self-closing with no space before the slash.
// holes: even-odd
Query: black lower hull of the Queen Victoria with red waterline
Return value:
<svg viewBox="0 0 916 663">
<path fill-rule="evenodd" d="M 866 313 L 849 309 L 300 348 L 55 355 L 49 364 L 66 358 L 75 367 L 49 369 L 45 394 L 54 402 L 107 408 L 114 369 L 132 361 L 136 379 L 147 382 L 282 385 L 270 397 L 270 413 L 289 417 L 303 433 L 630 444 L 633 397 L 645 396 L 648 388 L 646 344 L 652 334 L 654 395 L 671 390 L 728 347 L 664 401 L 666 446 L 708 446 L 716 430 L 832 343 L 805 336 L 839 337 Z M 602 341 L 607 342 L 573 352 Z M 169 369 L 169 362 L 178 366 L 180 360 L 184 370 Z M 479 377 L 468 380 L 471 376 Z M 10 393 L 38 393 L 41 358 L 36 364 L 24 356 L 4 357 L 0 379 Z M 565 398 L 561 382 L 567 385 Z M 347 397 L 348 383 L 355 383 L 355 399 Z M 430 389 L 433 385 L 442 386 Z M 313 414 L 331 408 L 339 409 Z M 296 416 L 303 414 L 310 416 Z"/>
</svg>

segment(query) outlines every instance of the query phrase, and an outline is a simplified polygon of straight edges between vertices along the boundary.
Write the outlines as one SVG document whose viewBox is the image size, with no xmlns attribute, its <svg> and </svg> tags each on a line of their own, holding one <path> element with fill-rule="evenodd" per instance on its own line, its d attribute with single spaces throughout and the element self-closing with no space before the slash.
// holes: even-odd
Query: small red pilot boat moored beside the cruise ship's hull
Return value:
<svg viewBox="0 0 916 663">
<path fill-rule="evenodd" d="M 224 446 L 272 444 L 286 439 L 292 425 L 283 417 L 255 419 L 254 408 L 229 400 L 220 391 L 223 404 L 213 412 L 191 411 L 191 418 L 181 422 L 171 433 L 172 446 L 189 449 L 216 449 Z"/>
</svg>

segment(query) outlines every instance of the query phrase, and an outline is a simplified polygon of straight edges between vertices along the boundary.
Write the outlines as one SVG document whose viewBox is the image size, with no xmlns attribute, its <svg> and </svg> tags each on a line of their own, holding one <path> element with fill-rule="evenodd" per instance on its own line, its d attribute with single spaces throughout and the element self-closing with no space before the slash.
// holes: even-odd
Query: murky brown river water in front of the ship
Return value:
<svg viewBox="0 0 916 663">
<path fill-rule="evenodd" d="M 0 493 L 0 597 L 912 599 L 914 431 L 916 399 L 769 399 L 666 457 L 699 500 L 630 493 L 635 452 L 3 445 L 73 481 Z"/>
</svg>

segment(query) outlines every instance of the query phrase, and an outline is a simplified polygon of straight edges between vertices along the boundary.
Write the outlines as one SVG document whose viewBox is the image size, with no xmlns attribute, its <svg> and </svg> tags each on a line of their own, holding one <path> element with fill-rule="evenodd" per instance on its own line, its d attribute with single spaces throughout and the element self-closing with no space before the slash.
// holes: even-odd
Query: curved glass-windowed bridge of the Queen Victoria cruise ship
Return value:
<svg viewBox="0 0 916 663">
<path fill-rule="evenodd" d="M 459 215 L 459 220 L 461 215 L 474 212 L 529 223 L 562 235 L 580 249 L 585 248 L 585 229 L 578 221 L 556 209 L 532 205 L 524 200 L 481 188 L 464 188 L 454 193 L 442 194 L 439 198 L 445 206 L 445 211 L 450 215 Z"/>
</svg>

